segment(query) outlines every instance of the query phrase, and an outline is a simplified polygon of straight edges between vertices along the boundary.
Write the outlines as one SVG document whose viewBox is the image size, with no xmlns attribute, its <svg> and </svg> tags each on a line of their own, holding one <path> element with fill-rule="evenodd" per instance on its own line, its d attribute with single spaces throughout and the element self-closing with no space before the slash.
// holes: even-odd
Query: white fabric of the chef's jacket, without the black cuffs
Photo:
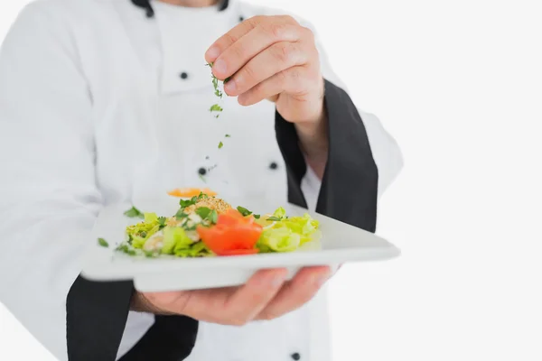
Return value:
<svg viewBox="0 0 542 361">
<path fill-rule="evenodd" d="M 226 199 L 286 201 L 274 105 L 243 107 L 224 97 L 215 118 L 203 59 L 243 18 L 281 12 L 235 0 L 221 12 L 152 5 L 148 19 L 129 0 L 38 1 L 23 10 L 0 51 L 0 301 L 61 360 L 66 295 L 102 207 L 138 205 L 183 186 L 210 187 Z M 318 46 L 324 77 L 341 86 Z M 402 158 L 377 117 L 360 115 L 380 195 Z M 308 171 L 303 190 L 312 209 L 319 188 Z M 240 328 L 201 322 L 188 360 L 278 361 L 299 353 L 328 361 L 325 308 L 321 292 L 281 319 Z M 131 312 L 118 356 L 153 322 Z"/>
</svg>

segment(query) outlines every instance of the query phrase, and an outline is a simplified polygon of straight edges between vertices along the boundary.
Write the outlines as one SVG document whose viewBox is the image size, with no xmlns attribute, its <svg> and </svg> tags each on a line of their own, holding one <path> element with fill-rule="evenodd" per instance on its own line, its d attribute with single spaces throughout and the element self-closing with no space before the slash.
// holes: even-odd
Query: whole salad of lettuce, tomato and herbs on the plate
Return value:
<svg viewBox="0 0 542 361">
<path fill-rule="evenodd" d="M 213 192 L 209 192 L 214 194 Z M 174 196 L 192 195 L 193 190 L 175 190 Z M 224 199 L 201 191 L 182 198 L 173 217 L 131 208 L 129 218 L 141 218 L 126 227 L 126 239 L 117 251 L 147 257 L 212 257 L 293 252 L 309 242 L 319 242 L 319 222 L 309 214 L 288 217 L 285 208 L 257 215 L 247 208 L 233 208 Z M 107 246 L 107 241 L 98 239 Z"/>
</svg>

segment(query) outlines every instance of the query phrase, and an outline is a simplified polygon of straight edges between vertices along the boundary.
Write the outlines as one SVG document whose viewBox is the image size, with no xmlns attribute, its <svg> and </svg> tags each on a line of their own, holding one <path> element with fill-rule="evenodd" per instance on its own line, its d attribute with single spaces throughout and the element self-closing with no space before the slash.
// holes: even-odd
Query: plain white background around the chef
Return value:
<svg viewBox="0 0 542 361">
<path fill-rule="evenodd" d="M 406 159 L 378 227 L 403 255 L 332 280 L 333 361 L 542 360 L 539 1 L 253 2 L 316 26 Z M 52 360 L 1 306 L 0 360 Z"/>
</svg>

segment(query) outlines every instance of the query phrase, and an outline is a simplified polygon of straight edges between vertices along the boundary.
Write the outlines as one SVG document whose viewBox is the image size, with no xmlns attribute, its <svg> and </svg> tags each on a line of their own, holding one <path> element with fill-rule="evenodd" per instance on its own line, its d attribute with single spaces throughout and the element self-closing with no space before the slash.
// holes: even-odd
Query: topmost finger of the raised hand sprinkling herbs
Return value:
<svg viewBox="0 0 542 361">
<path fill-rule="evenodd" d="M 220 56 L 220 54 L 228 49 L 233 43 L 238 42 L 245 34 L 255 29 L 258 25 L 262 23 L 296 23 L 294 18 L 287 15 L 279 16 L 254 16 L 242 23 L 239 23 L 237 26 L 232 28 L 229 32 L 226 32 L 224 35 L 213 42 L 210 45 L 209 49 L 205 52 L 205 60 L 207 62 L 214 62 Z"/>
</svg>

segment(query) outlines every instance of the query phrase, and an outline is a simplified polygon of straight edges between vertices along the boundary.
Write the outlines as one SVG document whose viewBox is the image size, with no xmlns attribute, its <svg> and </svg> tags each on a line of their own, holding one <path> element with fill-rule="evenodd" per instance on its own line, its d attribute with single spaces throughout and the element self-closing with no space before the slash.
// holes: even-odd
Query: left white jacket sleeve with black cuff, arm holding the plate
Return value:
<svg viewBox="0 0 542 361">
<path fill-rule="evenodd" d="M 134 288 L 79 276 L 102 208 L 92 99 L 70 27 L 51 4 L 26 7 L 0 49 L 0 301 L 58 359 L 114 361 L 137 317 Z M 138 345 L 157 329 L 174 329 L 177 355 L 190 353 L 197 322 L 158 319 Z M 141 359 L 134 349 L 126 360 Z"/>
</svg>

